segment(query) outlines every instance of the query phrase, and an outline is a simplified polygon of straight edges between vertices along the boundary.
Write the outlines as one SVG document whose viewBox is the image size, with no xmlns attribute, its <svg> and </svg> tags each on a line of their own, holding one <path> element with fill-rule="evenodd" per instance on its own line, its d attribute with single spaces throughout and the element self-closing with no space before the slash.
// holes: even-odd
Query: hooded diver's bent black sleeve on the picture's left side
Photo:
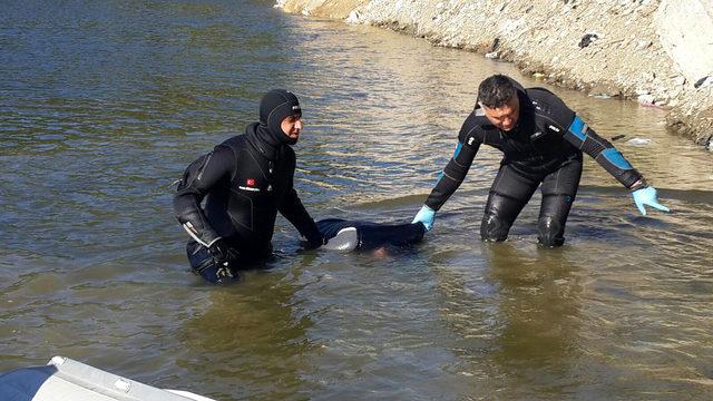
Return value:
<svg viewBox="0 0 713 401">
<path fill-rule="evenodd" d="M 186 168 L 174 196 L 174 213 L 184 229 L 201 245 L 211 247 L 221 239 L 208 224 L 201 202 L 215 185 L 229 179 L 235 155 L 227 147 L 216 147 Z"/>
</svg>

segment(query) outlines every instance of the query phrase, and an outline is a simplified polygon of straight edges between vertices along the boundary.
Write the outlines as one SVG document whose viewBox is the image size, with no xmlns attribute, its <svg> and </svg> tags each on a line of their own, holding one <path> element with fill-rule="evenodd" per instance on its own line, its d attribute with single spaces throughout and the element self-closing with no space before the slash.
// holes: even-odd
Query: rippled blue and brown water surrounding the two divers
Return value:
<svg viewBox="0 0 713 401">
<path fill-rule="evenodd" d="M 70 356 L 219 400 L 711 399 L 713 162 L 664 111 L 554 88 L 661 190 L 643 217 L 587 160 L 559 250 L 539 195 L 504 244 L 478 227 L 500 155 L 413 250 L 301 252 L 191 274 L 169 187 L 256 117 L 303 104 L 296 185 L 318 217 L 409 221 L 477 84 L 512 66 L 271 1 L 6 1 L 0 12 L 0 372 Z M 647 145 L 628 144 L 633 138 Z"/>
</svg>

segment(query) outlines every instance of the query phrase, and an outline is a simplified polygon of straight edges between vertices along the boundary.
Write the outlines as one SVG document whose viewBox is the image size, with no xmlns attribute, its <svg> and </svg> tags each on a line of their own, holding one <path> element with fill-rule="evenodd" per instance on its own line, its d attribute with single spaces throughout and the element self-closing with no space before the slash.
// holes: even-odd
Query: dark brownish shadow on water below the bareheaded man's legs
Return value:
<svg viewBox="0 0 713 401">
<path fill-rule="evenodd" d="M 573 378 L 580 354 L 579 266 L 566 248 L 505 243 L 484 244 L 484 251 L 499 293 L 499 334 L 488 359 L 510 389 L 567 395 L 579 384 Z"/>
</svg>

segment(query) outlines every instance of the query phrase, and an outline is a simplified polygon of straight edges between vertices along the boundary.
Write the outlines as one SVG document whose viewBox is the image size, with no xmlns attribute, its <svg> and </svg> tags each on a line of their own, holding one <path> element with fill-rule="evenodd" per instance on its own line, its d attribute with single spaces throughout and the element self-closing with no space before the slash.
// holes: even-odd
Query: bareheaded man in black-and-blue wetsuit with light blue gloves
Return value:
<svg viewBox="0 0 713 401">
<path fill-rule="evenodd" d="M 495 75 L 480 82 L 478 101 L 460 128 L 456 153 L 414 223 L 432 228 L 436 212 L 458 189 L 482 144 L 504 153 L 480 224 L 484 241 L 505 241 L 541 183 L 538 241 L 545 246 L 564 244 L 565 224 L 582 177 L 583 151 L 632 190 L 643 215 L 644 205 L 668 212 L 658 203 L 656 189 L 561 99 L 547 89 L 525 89 L 507 76 Z"/>
</svg>

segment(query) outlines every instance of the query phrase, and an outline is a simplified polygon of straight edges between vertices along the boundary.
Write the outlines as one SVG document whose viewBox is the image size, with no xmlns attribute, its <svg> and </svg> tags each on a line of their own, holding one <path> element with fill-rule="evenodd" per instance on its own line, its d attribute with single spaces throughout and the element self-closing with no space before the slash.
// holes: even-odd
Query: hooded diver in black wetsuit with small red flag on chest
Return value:
<svg viewBox="0 0 713 401">
<path fill-rule="evenodd" d="M 277 212 L 311 247 L 324 237 L 300 202 L 293 178 L 302 109 L 292 92 L 268 91 L 260 102 L 260 123 L 234 136 L 185 170 L 174 212 L 188 232 L 193 270 L 212 283 L 237 278 L 237 268 L 272 254 Z M 202 205 L 203 203 L 203 205 Z"/>
</svg>

